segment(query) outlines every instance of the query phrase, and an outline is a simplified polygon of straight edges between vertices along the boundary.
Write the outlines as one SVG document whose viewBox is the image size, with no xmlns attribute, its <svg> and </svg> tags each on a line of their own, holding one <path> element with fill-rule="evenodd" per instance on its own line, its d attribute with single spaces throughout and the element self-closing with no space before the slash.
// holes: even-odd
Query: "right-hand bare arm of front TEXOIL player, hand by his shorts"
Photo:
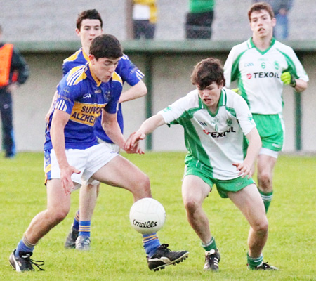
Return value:
<svg viewBox="0 0 316 281">
<path fill-rule="evenodd" d="M 254 165 L 256 158 L 258 157 L 259 150 L 261 149 L 261 139 L 256 128 L 252 129 L 247 135 L 247 140 L 249 141 L 247 154 L 242 163 L 233 163 L 237 170 L 240 171 L 239 176 L 244 178 L 248 176 L 251 177 L 251 167 Z"/>
</svg>

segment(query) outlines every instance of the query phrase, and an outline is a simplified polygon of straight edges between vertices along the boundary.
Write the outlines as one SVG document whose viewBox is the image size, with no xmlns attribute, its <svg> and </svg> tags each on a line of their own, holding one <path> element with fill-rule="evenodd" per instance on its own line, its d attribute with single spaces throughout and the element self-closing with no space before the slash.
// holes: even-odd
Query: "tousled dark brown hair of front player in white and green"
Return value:
<svg viewBox="0 0 316 281">
<path fill-rule="evenodd" d="M 204 90 L 213 82 L 225 86 L 224 70 L 217 58 L 206 58 L 201 60 L 191 75 L 192 84 L 198 86 L 200 90 Z"/>
</svg>

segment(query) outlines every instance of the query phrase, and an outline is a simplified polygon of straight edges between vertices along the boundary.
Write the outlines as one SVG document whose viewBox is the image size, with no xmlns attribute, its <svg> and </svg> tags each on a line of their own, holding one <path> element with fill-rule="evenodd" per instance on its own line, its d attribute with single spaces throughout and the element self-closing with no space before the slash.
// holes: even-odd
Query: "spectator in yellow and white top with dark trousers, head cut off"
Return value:
<svg viewBox="0 0 316 281">
<path fill-rule="evenodd" d="M 134 39 L 154 39 L 157 22 L 156 0 L 133 0 Z"/>
</svg>

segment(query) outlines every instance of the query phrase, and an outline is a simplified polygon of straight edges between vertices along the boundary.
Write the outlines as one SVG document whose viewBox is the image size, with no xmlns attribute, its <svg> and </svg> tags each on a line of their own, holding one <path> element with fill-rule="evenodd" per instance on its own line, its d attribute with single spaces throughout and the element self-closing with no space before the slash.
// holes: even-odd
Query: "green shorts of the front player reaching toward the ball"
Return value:
<svg viewBox="0 0 316 281">
<path fill-rule="evenodd" d="M 246 186 L 251 185 L 251 183 L 254 183 L 254 180 L 252 178 L 242 178 L 240 176 L 231 180 L 218 180 L 209 176 L 210 173 L 209 171 L 206 171 L 206 169 L 197 168 L 196 166 L 190 166 L 190 164 L 186 166 L 184 176 L 188 175 L 198 176 L 199 178 L 202 178 L 202 180 L 207 183 L 211 187 L 211 189 L 215 184 L 218 194 L 222 198 L 228 198 L 228 192 L 237 192 L 239 190 L 242 190 L 242 188 L 246 188 Z"/>
</svg>

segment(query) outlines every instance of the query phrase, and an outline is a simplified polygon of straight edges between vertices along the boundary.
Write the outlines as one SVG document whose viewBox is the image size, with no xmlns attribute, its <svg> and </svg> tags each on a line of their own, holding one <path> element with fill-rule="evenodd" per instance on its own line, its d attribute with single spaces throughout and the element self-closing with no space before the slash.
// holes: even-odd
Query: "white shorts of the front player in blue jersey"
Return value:
<svg viewBox="0 0 316 281">
<path fill-rule="evenodd" d="M 117 152 L 112 151 L 104 143 L 93 145 L 91 148 L 84 150 L 67 149 L 66 157 L 68 163 L 81 171 L 80 174 L 72 174 L 74 190 L 80 188 L 81 185 L 98 185 L 99 181 L 93 180 L 91 176 L 117 155 Z M 45 150 L 44 171 L 46 181 L 60 178 L 60 169 L 54 149 Z"/>
</svg>

